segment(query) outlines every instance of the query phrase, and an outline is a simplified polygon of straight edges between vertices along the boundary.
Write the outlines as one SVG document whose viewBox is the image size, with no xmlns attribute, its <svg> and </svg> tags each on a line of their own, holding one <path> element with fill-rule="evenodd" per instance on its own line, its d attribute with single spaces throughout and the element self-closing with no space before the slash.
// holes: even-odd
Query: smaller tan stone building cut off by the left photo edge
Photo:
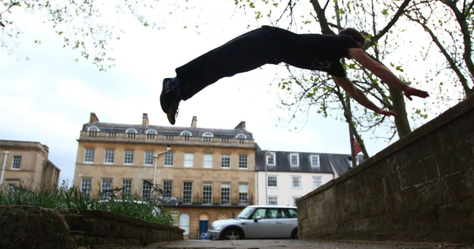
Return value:
<svg viewBox="0 0 474 249">
<path fill-rule="evenodd" d="M 57 185 L 60 170 L 48 160 L 48 153 L 48 146 L 39 142 L 0 140 L 0 184 Z"/>
</svg>

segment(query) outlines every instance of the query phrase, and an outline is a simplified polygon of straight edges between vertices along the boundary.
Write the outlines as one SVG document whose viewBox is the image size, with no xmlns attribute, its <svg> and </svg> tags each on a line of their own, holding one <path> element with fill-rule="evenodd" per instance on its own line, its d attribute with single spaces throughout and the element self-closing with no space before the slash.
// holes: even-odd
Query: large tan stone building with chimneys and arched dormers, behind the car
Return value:
<svg viewBox="0 0 474 249">
<path fill-rule="evenodd" d="M 114 124 L 91 113 L 77 141 L 75 186 L 94 195 L 123 186 L 147 197 L 155 181 L 185 238 L 254 204 L 255 143 L 245 122 L 199 128 L 193 117 L 189 127 L 157 126 L 143 114 L 142 124 Z"/>
</svg>

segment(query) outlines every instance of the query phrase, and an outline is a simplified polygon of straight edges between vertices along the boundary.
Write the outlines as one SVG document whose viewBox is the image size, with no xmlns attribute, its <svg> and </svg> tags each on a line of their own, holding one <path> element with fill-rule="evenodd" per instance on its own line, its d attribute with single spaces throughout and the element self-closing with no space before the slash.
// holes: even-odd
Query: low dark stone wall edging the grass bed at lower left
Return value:
<svg viewBox="0 0 474 249">
<path fill-rule="evenodd" d="M 0 205 L 0 248 L 116 248 L 183 240 L 177 227 L 98 210 L 75 213 Z"/>
</svg>

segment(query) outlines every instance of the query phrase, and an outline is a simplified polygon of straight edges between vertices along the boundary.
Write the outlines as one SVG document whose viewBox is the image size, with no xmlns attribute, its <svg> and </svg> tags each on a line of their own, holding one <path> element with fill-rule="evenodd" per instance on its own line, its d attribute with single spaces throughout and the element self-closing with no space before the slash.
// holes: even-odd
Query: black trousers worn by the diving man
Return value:
<svg viewBox="0 0 474 249">
<path fill-rule="evenodd" d="M 265 64 L 287 61 L 296 34 L 263 26 L 234 38 L 176 69 L 183 100 L 224 77 L 247 72 Z"/>
</svg>

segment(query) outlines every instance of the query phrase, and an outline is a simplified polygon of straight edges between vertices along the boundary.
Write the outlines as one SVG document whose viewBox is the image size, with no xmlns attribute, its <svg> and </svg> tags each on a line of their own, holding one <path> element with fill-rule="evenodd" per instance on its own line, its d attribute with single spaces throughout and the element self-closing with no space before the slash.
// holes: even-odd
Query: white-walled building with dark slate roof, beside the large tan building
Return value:
<svg viewBox="0 0 474 249">
<path fill-rule="evenodd" d="M 347 172 L 350 155 L 255 150 L 257 205 L 296 206 L 296 200 Z M 363 161 L 357 155 L 357 164 Z"/>
</svg>

